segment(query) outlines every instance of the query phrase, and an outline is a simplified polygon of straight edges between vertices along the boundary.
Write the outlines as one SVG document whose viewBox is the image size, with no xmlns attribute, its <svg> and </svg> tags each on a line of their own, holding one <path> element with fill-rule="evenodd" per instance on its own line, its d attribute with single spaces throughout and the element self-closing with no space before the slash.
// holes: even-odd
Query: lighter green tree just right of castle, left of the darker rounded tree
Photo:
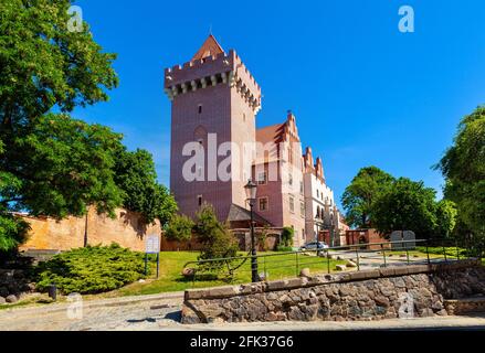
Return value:
<svg viewBox="0 0 485 353">
<path fill-rule="evenodd" d="M 360 169 L 342 194 L 346 221 L 350 226 L 370 228 L 373 203 L 394 179 L 377 167 Z"/>
</svg>

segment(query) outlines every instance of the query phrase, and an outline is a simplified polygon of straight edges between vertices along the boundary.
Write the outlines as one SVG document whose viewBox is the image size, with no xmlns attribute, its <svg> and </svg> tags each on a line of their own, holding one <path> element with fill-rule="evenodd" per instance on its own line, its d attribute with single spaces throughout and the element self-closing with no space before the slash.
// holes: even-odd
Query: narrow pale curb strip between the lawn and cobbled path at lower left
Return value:
<svg viewBox="0 0 485 353">
<path fill-rule="evenodd" d="M 164 300 L 164 299 L 183 299 L 183 291 L 167 292 L 160 295 L 86 300 L 83 301 L 83 308 L 89 309 L 89 308 L 123 307 L 138 302 L 149 302 L 149 301 Z M 59 303 L 51 306 L 44 304 L 38 307 L 4 309 L 0 311 L 0 317 L 2 317 L 3 313 L 14 314 L 14 313 L 30 313 L 30 312 L 42 312 L 42 313 L 60 312 L 60 311 L 65 311 L 68 306 L 70 303 Z"/>
</svg>

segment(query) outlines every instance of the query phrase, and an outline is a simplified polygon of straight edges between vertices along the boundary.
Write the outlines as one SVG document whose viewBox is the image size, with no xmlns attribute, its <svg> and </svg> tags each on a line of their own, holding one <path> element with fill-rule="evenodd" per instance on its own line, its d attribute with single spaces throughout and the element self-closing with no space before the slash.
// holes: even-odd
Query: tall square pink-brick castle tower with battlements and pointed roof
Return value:
<svg viewBox="0 0 485 353">
<path fill-rule="evenodd" d="M 261 88 L 235 51 L 225 53 L 210 35 L 190 62 L 165 71 L 165 92 L 171 100 L 170 189 L 180 212 L 193 216 L 207 202 L 225 221 L 231 204 L 245 207 Z"/>
</svg>

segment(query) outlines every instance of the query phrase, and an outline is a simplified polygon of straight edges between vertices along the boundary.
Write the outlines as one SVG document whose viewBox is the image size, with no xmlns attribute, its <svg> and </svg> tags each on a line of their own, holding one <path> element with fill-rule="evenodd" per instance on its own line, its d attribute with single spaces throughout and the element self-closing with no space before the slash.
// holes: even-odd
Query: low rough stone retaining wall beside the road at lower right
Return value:
<svg viewBox="0 0 485 353">
<path fill-rule="evenodd" d="M 183 323 L 379 320 L 446 315 L 445 299 L 485 293 L 485 267 L 463 260 L 188 290 Z M 407 302 L 412 300 L 408 307 Z M 408 308 L 408 310 L 403 310 Z M 401 310 L 401 313 L 400 313 Z"/>
</svg>

